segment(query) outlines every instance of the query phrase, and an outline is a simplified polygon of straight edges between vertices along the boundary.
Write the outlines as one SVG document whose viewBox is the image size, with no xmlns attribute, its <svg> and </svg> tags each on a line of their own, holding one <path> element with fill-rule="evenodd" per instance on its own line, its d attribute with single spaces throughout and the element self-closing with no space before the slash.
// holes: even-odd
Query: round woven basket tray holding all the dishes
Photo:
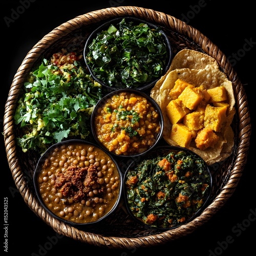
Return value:
<svg viewBox="0 0 256 256">
<path fill-rule="evenodd" d="M 233 84 L 236 115 L 232 123 L 235 134 L 235 146 L 232 155 L 225 162 L 211 166 L 215 170 L 214 188 L 207 208 L 198 218 L 176 229 L 163 232 L 152 229 L 146 230 L 143 226 L 134 223 L 133 219 L 127 215 L 123 205 L 120 205 L 108 221 L 91 229 L 77 229 L 56 220 L 41 207 L 35 195 L 32 176 L 38 156 L 25 155 L 16 146 L 15 135 L 17 131 L 13 116 L 20 89 L 24 86 L 26 76 L 31 69 L 41 61 L 42 56 L 49 58 L 61 48 L 72 49 L 75 47 L 77 48 L 76 51 L 82 53 L 88 35 L 104 20 L 117 16 L 135 16 L 158 25 L 168 35 L 174 48 L 174 54 L 181 49 L 193 49 L 214 57 Z M 77 16 L 43 37 L 27 54 L 15 74 L 4 115 L 4 136 L 9 167 L 15 184 L 27 205 L 56 232 L 84 243 L 108 248 L 159 245 L 186 236 L 207 222 L 226 203 L 237 187 L 247 160 L 250 133 L 250 116 L 244 88 L 236 72 L 219 48 L 198 30 L 173 16 L 151 9 L 131 6 L 101 9 Z"/>
</svg>

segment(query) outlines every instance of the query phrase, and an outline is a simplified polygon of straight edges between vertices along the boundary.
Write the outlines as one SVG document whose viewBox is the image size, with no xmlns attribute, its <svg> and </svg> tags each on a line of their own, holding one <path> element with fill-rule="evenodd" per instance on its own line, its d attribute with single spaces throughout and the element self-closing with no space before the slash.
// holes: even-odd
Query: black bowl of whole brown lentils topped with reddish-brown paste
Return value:
<svg viewBox="0 0 256 256">
<path fill-rule="evenodd" d="M 48 148 L 33 178 L 42 207 L 73 226 L 105 220 L 121 200 L 122 176 L 116 161 L 97 145 L 80 139 Z"/>
</svg>

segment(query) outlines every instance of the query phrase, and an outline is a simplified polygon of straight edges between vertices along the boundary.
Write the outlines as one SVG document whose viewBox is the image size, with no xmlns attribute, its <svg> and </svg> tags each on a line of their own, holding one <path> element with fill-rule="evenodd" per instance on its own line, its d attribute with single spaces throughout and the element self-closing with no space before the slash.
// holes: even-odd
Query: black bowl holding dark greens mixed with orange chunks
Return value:
<svg viewBox="0 0 256 256">
<path fill-rule="evenodd" d="M 178 176 L 177 179 L 175 176 L 173 176 L 173 174 L 170 174 L 170 173 L 168 173 L 168 176 L 167 176 L 166 171 L 163 168 L 160 168 L 159 166 L 156 167 L 157 163 L 160 160 L 162 160 L 164 157 L 166 157 L 166 155 L 168 155 L 170 152 L 173 152 L 174 154 L 177 154 L 179 152 L 184 152 L 182 153 L 183 156 L 189 156 L 190 159 L 194 159 L 193 160 L 194 163 L 195 161 L 199 160 L 198 162 L 200 162 L 200 164 L 194 165 L 194 166 L 197 166 L 198 168 L 195 168 L 193 170 L 194 172 L 193 174 L 190 173 L 191 177 L 185 178 L 184 176 L 183 172 L 187 172 L 188 170 L 185 167 L 184 159 L 183 159 L 184 165 L 181 167 L 181 170 L 179 172 L 174 173 L 174 174 L 177 174 Z M 156 160 L 157 157 L 159 157 L 158 160 Z M 155 161 L 153 162 L 152 159 L 155 159 Z M 173 157 L 173 161 L 174 163 L 175 162 L 177 163 L 177 166 L 178 166 L 178 159 L 181 159 L 181 155 L 179 155 L 179 157 L 177 158 Z M 174 163 L 172 163 L 173 169 L 174 169 Z M 165 165 L 165 168 L 167 168 L 167 166 L 168 165 Z M 199 168 L 202 170 L 202 174 L 197 173 L 197 170 Z M 190 172 L 191 172 L 191 169 L 192 168 L 190 168 Z M 162 174 L 160 174 L 161 170 L 162 170 Z M 140 175 L 136 176 L 138 173 Z M 153 178 L 153 176 L 155 178 Z M 139 177 L 139 179 L 136 180 L 136 177 Z M 127 182 L 128 179 L 129 179 L 129 182 Z M 147 182 L 143 183 L 142 181 L 145 181 L 145 180 L 147 180 Z M 168 182 L 165 180 L 168 180 Z M 169 182 L 169 180 L 171 182 Z M 137 182 L 140 182 L 140 186 Z M 164 186 L 161 186 L 163 185 L 163 182 L 166 182 L 166 183 Z M 192 185 L 192 183 L 194 184 Z M 201 185 L 207 184 L 207 190 L 205 190 L 204 194 L 200 195 L 201 185 L 198 185 L 198 190 L 197 190 L 197 186 L 195 185 L 196 183 Z M 143 225 L 147 229 L 159 229 L 159 230 L 174 229 L 194 220 L 196 217 L 198 217 L 201 214 L 203 209 L 208 205 L 210 200 L 210 195 L 211 195 L 211 189 L 212 189 L 212 176 L 210 173 L 210 169 L 208 168 L 204 160 L 194 152 L 178 146 L 170 146 L 170 145 L 157 146 L 155 150 L 151 151 L 148 155 L 140 158 L 135 158 L 127 167 L 126 172 L 124 173 L 123 194 L 124 194 L 124 201 L 125 201 L 127 211 L 132 216 L 132 218 L 135 221 L 137 221 L 137 223 L 139 223 L 140 225 Z M 137 196 L 138 195 L 137 191 L 139 191 L 140 193 L 139 196 Z M 189 194 L 189 197 L 186 197 L 188 194 Z M 198 198 L 196 195 L 198 196 Z M 199 202 L 200 197 L 203 200 L 201 202 Z M 196 202 L 195 198 L 197 198 L 199 205 L 196 207 L 194 206 L 193 208 L 193 204 Z M 182 200 L 184 200 L 184 206 L 186 208 L 182 206 Z M 153 204 L 155 204 L 154 207 L 152 206 L 153 205 L 152 202 Z M 188 203 L 191 203 L 191 204 L 189 205 Z M 133 210 L 136 207 L 141 208 L 141 211 L 138 211 L 138 209 Z M 182 218 L 180 217 L 182 216 L 182 214 L 180 209 L 178 210 L 178 207 L 180 207 L 180 209 L 183 210 L 182 214 L 183 214 L 183 217 L 185 217 L 185 219 L 182 219 L 183 217 Z M 142 215 L 138 216 L 138 212 L 139 214 L 142 212 Z M 151 213 L 153 215 L 149 216 L 148 213 Z M 176 214 L 179 217 L 177 217 Z M 168 225 L 163 224 L 163 221 L 161 220 L 161 218 L 165 218 L 166 215 L 169 218 L 168 220 L 173 218 L 172 219 L 173 222 L 171 223 L 168 222 L 167 223 Z M 145 219 L 143 219 L 143 217 L 145 218 L 145 216 L 147 216 L 147 219 L 149 221 L 145 221 Z M 157 218 L 154 219 L 156 216 Z"/>
</svg>

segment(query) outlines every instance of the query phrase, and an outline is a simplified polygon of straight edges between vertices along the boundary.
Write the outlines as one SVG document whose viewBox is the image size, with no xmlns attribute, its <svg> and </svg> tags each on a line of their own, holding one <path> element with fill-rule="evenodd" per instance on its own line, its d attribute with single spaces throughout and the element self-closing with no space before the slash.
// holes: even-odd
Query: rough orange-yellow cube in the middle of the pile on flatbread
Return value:
<svg viewBox="0 0 256 256">
<path fill-rule="evenodd" d="M 204 127 L 204 112 L 194 111 L 184 116 L 183 123 L 189 130 L 198 131 Z"/>
</svg>

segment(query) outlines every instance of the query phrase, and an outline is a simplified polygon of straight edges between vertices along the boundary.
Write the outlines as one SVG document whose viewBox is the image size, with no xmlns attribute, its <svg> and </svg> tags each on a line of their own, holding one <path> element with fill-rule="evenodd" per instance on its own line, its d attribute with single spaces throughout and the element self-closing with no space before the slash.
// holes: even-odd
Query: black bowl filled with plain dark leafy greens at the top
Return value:
<svg viewBox="0 0 256 256">
<path fill-rule="evenodd" d="M 137 42 L 142 41 L 142 39 L 147 40 L 140 43 L 139 47 L 137 46 L 139 44 L 134 44 L 135 40 L 132 41 L 131 39 L 129 39 L 129 44 L 126 44 L 127 37 L 124 38 L 124 36 L 118 36 L 119 40 L 113 42 L 113 35 L 116 36 L 116 30 L 111 36 L 110 34 L 108 37 L 105 36 L 104 41 L 98 36 L 103 31 L 108 31 L 112 25 L 118 32 L 123 32 L 123 26 L 120 27 L 123 19 L 126 24 L 132 23 L 130 31 L 133 31 L 135 26 L 137 28 L 139 24 L 144 24 L 150 28 L 152 34 L 156 30 L 160 34 L 146 36 L 133 33 L 133 38 L 136 38 Z M 154 44 L 148 43 L 148 41 L 153 41 L 151 38 L 154 38 Z M 92 42 L 95 42 L 94 46 L 97 44 L 97 47 L 92 47 Z M 125 47 L 123 47 L 124 45 Z M 162 50 L 159 49 L 165 49 L 166 52 L 163 54 Z M 167 72 L 172 59 L 172 47 L 166 34 L 156 25 L 131 16 L 118 17 L 108 20 L 91 33 L 84 47 L 84 59 L 94 80 L 109 91 L 122 88 L 143 91 L 152 87 Z M 115 77 L 114 80 L 113 77 Z"/>
</svg>

